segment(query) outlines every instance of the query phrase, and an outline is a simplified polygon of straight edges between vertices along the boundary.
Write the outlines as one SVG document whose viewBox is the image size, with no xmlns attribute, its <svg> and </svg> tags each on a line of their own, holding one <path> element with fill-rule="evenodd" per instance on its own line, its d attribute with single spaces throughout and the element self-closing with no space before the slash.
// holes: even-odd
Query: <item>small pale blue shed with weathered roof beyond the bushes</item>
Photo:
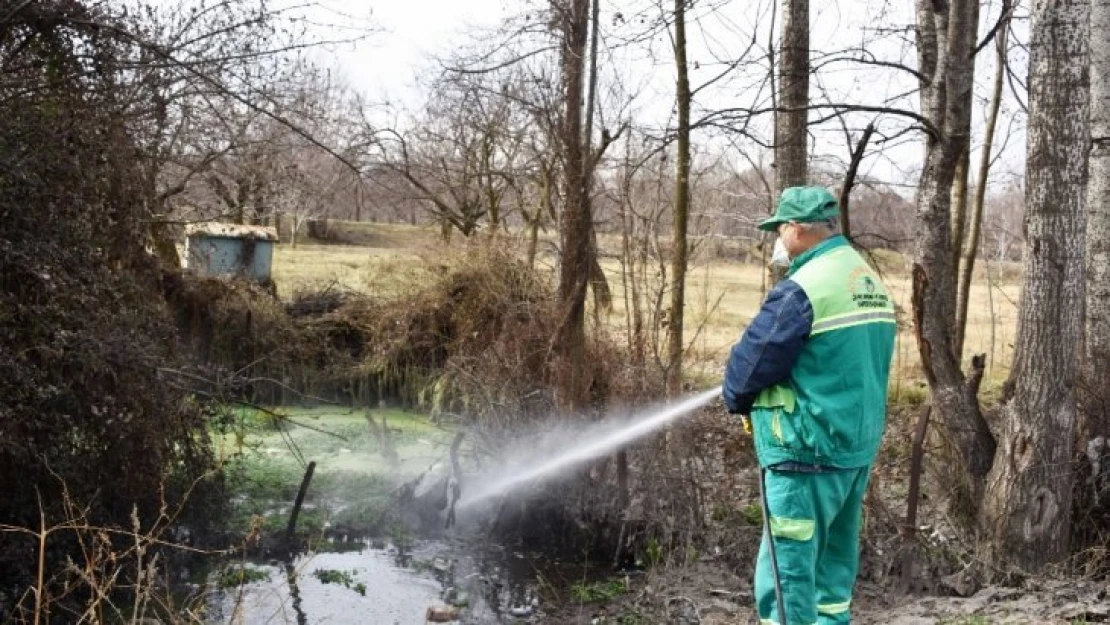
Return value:
<svg viewBox="0 0 1110 625">
<path fill-rule="evenodd" d="M 184 266 L 201 275 L 270 281 L 278 231 L 260 225 L 193 223 L 185 226 Z"/>
</svg>

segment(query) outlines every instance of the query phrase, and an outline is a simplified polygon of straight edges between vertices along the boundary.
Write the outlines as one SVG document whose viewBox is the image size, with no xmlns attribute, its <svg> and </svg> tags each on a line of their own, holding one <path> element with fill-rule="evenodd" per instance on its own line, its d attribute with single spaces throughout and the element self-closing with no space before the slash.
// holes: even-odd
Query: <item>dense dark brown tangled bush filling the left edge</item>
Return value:
<svg viewBox="0 0 1110 625">
<path fill-rule="evenodd" d="M 200 534 L 219 510 L 219 484 L 200 480 L 212 466 L 203 405 L 163 375 L 181 354 L 152 296 L 149 196 L 113 99 L 124 44 L 64 28 L 110 19 L 79 3 L 23 7 L 0 34 L 0 523 L 38 532 L 0 534 L 0 617 L 31 587 L 57 614 L 80 614 L 102 588 L 69 584 L 67 562 L 130 548 L 127 535 L 145 534 L 194 484 L 174 522 Z M 42 534 L 73 518 L 69 497 L 82 526 L 100 530 Z M 115 585 L 127 594 L 141 574 Z"/>
</svg>

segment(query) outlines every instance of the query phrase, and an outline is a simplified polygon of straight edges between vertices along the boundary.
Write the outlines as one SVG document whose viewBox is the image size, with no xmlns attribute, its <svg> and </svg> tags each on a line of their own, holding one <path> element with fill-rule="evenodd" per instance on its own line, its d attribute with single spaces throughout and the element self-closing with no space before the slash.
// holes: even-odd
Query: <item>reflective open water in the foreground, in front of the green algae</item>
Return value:
<svg viewBox="0 0 1110 625">
<path fill-rule="evenodd" d="M 528 623 L 541 607 L 537 568 L 524 554 L 466 554 L 444 543 L 411 552 L 355 547 L 299 556 L 292 565 L 248 564 L 250 583 L 216 593 L 212 624 L 423 625 L 430 607 L 452 623 Z M 260 577 L 262 577 L 260 579 Z"/>
</svg>

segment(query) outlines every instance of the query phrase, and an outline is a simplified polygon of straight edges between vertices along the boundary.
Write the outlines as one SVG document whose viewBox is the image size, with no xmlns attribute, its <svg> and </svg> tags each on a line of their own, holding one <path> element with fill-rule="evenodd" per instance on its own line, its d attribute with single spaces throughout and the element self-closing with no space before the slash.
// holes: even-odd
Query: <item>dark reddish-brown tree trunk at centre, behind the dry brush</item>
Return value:
<svg viewBox="0 0 1110 625">
<path fill-rule="evenodd" d="M 559 406 L 575 412 L 586 400 L 585 300 L 589 282 L 589 206 L 585 196 L 585 153 L 582 145 L 583 78 L 589 0 L 565 0 L 555 6 L 562 31 L 561 69 L 563 120 L 564 204 L 559 220 L 558 325 L 553 337 L 555 380 Z"/>
</svg>

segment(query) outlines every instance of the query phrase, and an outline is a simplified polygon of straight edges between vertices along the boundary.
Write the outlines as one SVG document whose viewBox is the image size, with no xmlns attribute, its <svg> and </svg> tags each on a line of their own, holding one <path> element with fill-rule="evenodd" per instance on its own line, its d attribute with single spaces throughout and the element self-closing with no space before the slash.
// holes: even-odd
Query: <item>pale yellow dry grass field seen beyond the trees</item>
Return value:
<svg viewBox="0 0 1110 625">
<path fill-rule="evenodd" d="M 355 224 L 351 224 L 355 228 Z M 427 275 L 430 266 L 450 262 L 452 253 L 463 243 L 458 239 L 443 243 L 437 231 L 397 224 L 357 224 L 371 233 L 364 245 L 289 244 L 278 246 L 274 258 L 274 280 L 279 294 L 289 298 L 297 290 L 319 289 L 335 284 L 354 291 L 380 293 L 385 296 L 395 289 L 405 289 Z M 524 243 L 506 236 L 497 244 Z M 603 238 L 603 248 L 608 242 Z M 543 252 L 549 245 L 541 245 Z M 909 260 L 897 254 L 880 256 L 886 283 L 894 292 L 905 315 L 898 336 L 894 391 L 899 397 L 921 396 L 920 365 L 917 346 L 909 324 Z M 1017 327 L 1018 279 L 1012 264 L 991 263 L 988 280 L 983 263 L 971 291 L 966 353 L 987 353 L 988 373 L 985 392 L 996 391 L 1009 373 Z M 554 275 L 552 259 L 543 256 L 537 266 Z M 619 263 L 603 263 L 613 290 L 613 309 L 604 322 L 616 332 L 625 332 L 626 304 Z M 998 275 L 1005 275 L 999 279 Z M 758 311 L 763 299 L 763 269 L 754 264 L 724 260 L 695 259 L 686 288 L 686 336 L 690 343 L 689 374 L 710 383 L 719 380 L 728 349 Z M 666 301 L 666 300 L 664 300 Z"/>
</svg>

